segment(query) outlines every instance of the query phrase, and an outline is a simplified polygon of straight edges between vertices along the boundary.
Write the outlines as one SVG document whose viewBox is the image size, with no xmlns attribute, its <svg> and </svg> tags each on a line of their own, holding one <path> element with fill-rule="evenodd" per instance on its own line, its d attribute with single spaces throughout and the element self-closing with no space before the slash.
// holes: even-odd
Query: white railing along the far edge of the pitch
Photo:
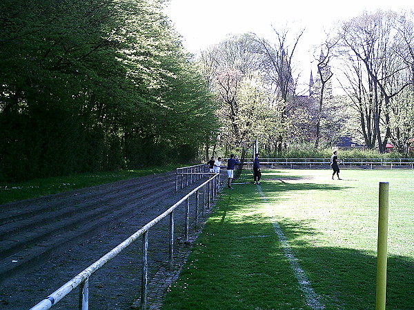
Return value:
<svg viewBox="0 0 414 310">
<path fill-rule="evenodd" d="M 414 158 L 339 158 L 344 169 L 414 169 Z M 262 169 L 327 169 L 331 158 L 259 158 Z M 253 161 L 244 161 L 244 169 L 252 169 Z"/>
</svg>

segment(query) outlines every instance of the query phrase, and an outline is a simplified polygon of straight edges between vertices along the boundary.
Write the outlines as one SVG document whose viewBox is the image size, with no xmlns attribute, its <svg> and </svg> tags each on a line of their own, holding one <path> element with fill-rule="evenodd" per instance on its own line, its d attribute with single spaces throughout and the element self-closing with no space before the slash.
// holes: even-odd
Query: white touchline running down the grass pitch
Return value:
<svg viewBox="0 0 414 310">
<path fill-rule="evenodd" d="M 266 207 L 268 208 L 270 214 L 273 216 L 273 210 L 268 204 L 268 200 L 266 196 L 264 195 L 264 192 L 262 191 L 262 187 L 260 185 L 257 186 L 257 189 L 259 191 L 260 196 L 262 196 L 263 200 L 266 202 Z M 293 273 L 295 273 L 295 276 L 297 278 L 297 282 L 299 282 L 299 286 L 304 291 L 306 296 L 306 304 L 308 304 L 309 307 L 312 309 L 325 309 L 324 304 L 321 304 L 319 302 L 320 296 L 313 291 L 311 287 L 311 282 L 309 282 L 308 278 L 306 278 L 306 275 L 303 271 L 303 269 L 300 267 L 299 262 L 297 262 L 297 258 L 293 255 L 293 251 L 290 248 L 288 240 L 286 240 L 286 237 L 284 236 L 284 233 L 282 229 L 280 228 L 279 224 L 277 222 L 273 223 L 273 228 L 275 229 L 275 232 L 277 234 L 277 237 L 279 238 L 280 243 L 282 243 L 283 250 L 285 252 L 286 258 L 288 258 L 288 262 L 290 263 L 290 267 L 293 269 Z"/>
</svg>

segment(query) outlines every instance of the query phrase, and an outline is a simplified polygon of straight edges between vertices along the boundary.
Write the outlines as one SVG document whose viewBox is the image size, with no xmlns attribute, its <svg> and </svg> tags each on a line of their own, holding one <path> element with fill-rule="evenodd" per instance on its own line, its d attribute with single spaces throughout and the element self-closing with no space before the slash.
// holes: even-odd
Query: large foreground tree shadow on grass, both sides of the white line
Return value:
<svg viewBox="0 0 414 310">
<path fill-rule="evenodd" d="M 230 219 L 221 220 L 223 214 Z M 310 309 L 267 220 L 253 214 L 241 218 L 231 205 L 213 217 L 217 220 L 204 228 L 163 309 Z M 279 225 L 326 309 L 375 308 L 375 256 L 298 243 L 295 237 L 318 231 L 303 221 L 281 220 Z M 389 257 L 387 309 L 414 309 L 413 287 L 413 258 Z"/>
</svg>

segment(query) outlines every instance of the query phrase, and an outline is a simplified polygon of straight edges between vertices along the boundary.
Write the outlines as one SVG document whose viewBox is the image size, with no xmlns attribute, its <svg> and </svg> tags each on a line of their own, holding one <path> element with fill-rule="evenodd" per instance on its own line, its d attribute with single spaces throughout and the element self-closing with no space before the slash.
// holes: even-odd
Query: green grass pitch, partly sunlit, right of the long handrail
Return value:
<svg viewBox="0 0 414 310">
<path fill-rule="evenodd" d="M 375 309 L 380 181 L 386 309 L 414 309 L 414 172 L 341 176 L 268 170 L 260 186 L 224 189 L 163 309 Z"/>
</svg>

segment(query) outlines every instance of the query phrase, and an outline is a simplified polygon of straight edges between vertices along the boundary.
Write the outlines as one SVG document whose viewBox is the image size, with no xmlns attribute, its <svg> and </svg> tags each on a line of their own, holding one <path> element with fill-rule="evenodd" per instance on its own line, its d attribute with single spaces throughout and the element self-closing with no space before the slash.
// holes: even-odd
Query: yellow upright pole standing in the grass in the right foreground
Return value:
<svg viewBox="0 0 414 310">
<path fill-rule="evenodd" d="M 386 303 L 386 252 L 388 235 L 388 182 L 380 182 L 377 242 L 377 291 L 375 310 L 385 310 Z"/>
</svg>

